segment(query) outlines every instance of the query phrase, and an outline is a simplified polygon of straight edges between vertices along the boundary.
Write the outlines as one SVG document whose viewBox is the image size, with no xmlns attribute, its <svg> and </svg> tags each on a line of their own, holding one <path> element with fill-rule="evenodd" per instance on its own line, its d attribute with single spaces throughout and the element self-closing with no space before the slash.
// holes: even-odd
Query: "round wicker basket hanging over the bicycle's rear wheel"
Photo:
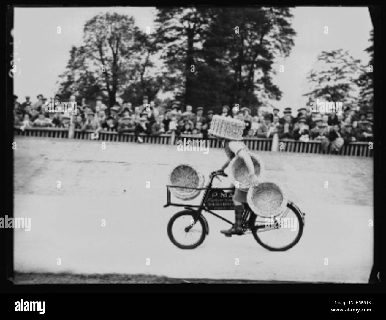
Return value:
<svg viewBox="0 0 386 320">
<path fill-rule="evenodd" d="M 287 207 L 283 188 L 272 181 L 263 181 L 257 186 L 251 186 L 247 193 L 247 202 L 251 210 L 261 217 L 278 215 Z"/>
</svg>

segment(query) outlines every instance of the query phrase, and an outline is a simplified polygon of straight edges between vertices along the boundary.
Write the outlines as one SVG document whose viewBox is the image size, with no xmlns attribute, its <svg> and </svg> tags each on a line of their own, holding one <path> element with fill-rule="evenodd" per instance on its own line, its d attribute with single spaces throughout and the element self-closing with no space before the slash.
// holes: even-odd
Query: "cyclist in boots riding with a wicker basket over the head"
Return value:
<svg viewBox="0 0 386 320">
<path fill-rule="evenodd" d="M 227 161 L 218 171 L 223 172 L 228 167 L 230 161 L 234 157 L 238 156 L 245 163 L 245 166 L 250 175 L 251 184 L 258 185 L 259 180 L 255 174 L 252 158 L 249 155 L 247 146 L 245 146 L 245 144 L 242 142 L 245 122 L 220 115 L 214 115 L 212 122 L 213 125 L 209 130 L 209 134 L 217 137 L 218 142 L 221 143 L 225 154 L 228 157 Z M 235 188 L 233 202 L 235 211 L 235 223 L 229 230 L 221 230 L 221 233 L 225 235 L 240 235 L 244 233 L 241 220 L 242 214 L 244 212 L 244 204 L 247 203 L 247 192 L 241 191 L 239 188 Z"/>
</svg>

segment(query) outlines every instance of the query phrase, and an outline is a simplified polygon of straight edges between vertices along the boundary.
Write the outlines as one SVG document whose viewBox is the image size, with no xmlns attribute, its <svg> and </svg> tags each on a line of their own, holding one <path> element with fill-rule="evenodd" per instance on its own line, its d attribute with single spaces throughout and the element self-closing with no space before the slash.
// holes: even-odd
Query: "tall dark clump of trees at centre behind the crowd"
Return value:
<svg viewBox="0 0 386 320">
<path fill-rule="evenodd" d="M 289 8 L 158 10 L 163 58 L 183 84 L 178 91 L 186 104 L 212 108 L 224 103 L 258 105 L 264 94 L 281 98 L 271 75 L 274 58 L 288 55 L 293 46 Z"/>
</svg>

